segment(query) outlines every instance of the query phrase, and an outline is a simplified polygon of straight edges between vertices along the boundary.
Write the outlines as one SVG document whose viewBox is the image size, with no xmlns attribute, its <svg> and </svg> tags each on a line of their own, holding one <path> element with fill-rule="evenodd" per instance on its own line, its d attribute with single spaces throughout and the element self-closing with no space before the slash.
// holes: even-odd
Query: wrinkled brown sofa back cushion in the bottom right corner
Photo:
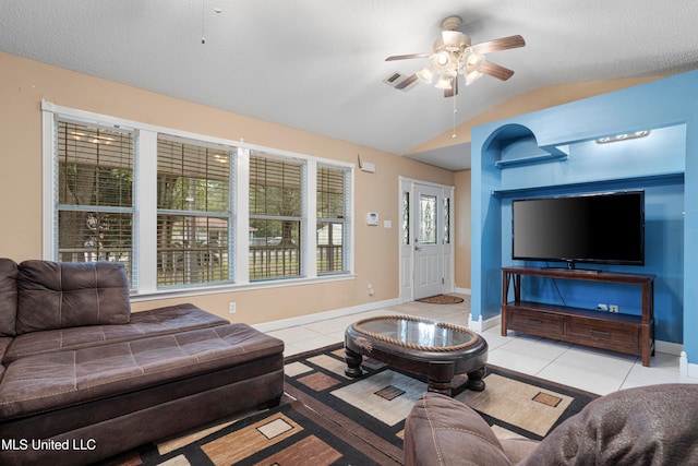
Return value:
<svg viewBox="0 0 698 466">
<path fill-rule="evenodd" d="M 520 464 L 696 465 L 698 385 L 648 385 L 597 398 Z"/>
</svg>

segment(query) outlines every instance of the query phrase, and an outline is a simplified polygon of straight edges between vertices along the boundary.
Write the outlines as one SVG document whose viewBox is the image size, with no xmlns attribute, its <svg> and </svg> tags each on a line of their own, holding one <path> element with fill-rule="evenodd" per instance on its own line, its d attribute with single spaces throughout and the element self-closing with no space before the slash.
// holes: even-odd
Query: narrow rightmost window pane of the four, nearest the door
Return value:
<svg viewBox="0 0 698 466">
<path fill-rule="evenodd" d="M 344 242 L 347 236 L 348 170 L 317 168 L 317 273 L 347 272 Z"/>
</svg>

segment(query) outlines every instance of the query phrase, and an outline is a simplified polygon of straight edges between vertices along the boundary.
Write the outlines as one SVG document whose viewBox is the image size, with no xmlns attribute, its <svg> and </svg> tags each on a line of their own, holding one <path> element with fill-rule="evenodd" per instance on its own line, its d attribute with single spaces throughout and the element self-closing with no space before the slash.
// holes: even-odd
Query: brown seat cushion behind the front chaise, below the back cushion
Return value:
<svg viewBox="0 0 698 466">
<path fill-rule="evenodd" d="M 4 359 L 0 360 L 10 363 L 26 356 L 129 342 L 229 323 L 194 304 L 168 306 L 133 312 L 131 321 L 123 325 L 88 325 L 17 335 Z"/>
</svg>

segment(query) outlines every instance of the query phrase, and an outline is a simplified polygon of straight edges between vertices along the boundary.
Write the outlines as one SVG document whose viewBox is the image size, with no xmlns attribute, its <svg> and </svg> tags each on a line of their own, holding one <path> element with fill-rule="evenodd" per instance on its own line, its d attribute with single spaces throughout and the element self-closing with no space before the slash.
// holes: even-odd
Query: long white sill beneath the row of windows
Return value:
<svg viewBox="0 0 698 466">
<path fill-rule="evenodd" d="M 324 275 L 314 278 L 285 278 L 252 282 L 248 284 L 208 285 L 192 288 L 161 289 L 148 294 L 131 294 L 131 302 L 154 301 L 158 299 L 182 298 L 189 296 L 216 295 L 222 292 L 249 291 L 257 289 L 282 288 L 287 286 L 317 285 L 356 279 L 354 274 Z"/>
</svg>

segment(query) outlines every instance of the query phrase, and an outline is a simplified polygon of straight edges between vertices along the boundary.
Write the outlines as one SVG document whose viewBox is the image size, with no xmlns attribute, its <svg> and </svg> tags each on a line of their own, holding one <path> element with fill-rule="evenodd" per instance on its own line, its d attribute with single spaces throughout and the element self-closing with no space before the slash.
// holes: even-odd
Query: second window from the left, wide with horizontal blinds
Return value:
<svg viewBox="0 0 698 466">
<path fill-rule="evenodd" d="M 159 286 L 232 280 L 230 159 L 230 151 L 158 140 Z"/>
</svg>

